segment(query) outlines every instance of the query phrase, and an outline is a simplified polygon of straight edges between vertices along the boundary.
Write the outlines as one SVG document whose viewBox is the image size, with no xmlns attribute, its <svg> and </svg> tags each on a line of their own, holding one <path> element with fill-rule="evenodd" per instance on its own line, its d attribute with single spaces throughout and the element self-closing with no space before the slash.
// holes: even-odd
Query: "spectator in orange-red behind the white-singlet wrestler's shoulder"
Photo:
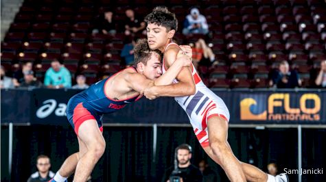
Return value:
<svg viewBox="0 0 326 182">
<path fill-rule="evenodd" d="M 195 68 L 198 68 L 198 64 L 210 66 L 215 61 L 215 54 L 205 40 L 200 38 L 192 49 L 192 58 Z"/>
</svg>

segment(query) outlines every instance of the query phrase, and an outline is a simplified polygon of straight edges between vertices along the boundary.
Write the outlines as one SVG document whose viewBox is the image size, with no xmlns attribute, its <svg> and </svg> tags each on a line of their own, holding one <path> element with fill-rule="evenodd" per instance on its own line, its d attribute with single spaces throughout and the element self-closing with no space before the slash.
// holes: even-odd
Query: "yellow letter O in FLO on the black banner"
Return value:
<svg viewBox="0 0 326 182">
<path fill-rule="evenodd" d="M 314 108 L 307 108 L 305 101 L 314 100 Z M 303 94 L 300 98 L 301 111 L 306 114 L 316 114 L 321 110 L 321 99 L 317 94 Z"/>
</svg>

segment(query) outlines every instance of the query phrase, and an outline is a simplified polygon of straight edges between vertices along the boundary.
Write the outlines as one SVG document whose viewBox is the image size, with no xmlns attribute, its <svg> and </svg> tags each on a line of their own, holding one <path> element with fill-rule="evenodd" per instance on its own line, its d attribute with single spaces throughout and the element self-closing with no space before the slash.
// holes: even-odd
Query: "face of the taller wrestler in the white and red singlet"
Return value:
<svg viewBox="0 0 326 182">
<path fill-rule="evenodd" d="M 172 29 L 167 31 L 166 27 L 154 23 L 148 24 L 146 29 L 148 46 L 150 49 L 159 49 L 163 53 L 165 45 L 168 43 L 169 39 L 173 38 L 175 30 Z"/>
</svg>

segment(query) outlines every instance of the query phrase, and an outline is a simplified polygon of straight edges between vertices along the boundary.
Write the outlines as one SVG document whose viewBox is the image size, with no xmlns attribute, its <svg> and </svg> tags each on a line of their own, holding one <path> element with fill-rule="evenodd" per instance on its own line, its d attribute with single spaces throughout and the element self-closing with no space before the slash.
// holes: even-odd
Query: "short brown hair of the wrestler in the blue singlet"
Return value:
<svg viewBox="0 0 326 182">
<path fill-rule="evenodd" d="M 134 49 L 134 62 L 133 66 L 137 67 L 137 64 L 139 62 L 142 62 L 143 64 L 147 65 L 148 60 L 150 60 L 150 56 L 152 53 L 157 53 L 159 55 L 159 59 L 161 60 L 163 55 L 161 51 L 159 50 L 150 50 L 150 47 L 148 47 L 147 39 L 141 38 L 137 40 L 137 44 Z"/>
</svg>

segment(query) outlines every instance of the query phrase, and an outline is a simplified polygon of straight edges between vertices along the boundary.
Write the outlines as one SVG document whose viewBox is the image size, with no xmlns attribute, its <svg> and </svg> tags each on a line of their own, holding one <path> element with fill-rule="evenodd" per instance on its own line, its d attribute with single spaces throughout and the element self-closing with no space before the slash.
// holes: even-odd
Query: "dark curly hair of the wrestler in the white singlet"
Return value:
<svg viewBox="0 0 326 182">
<path fill-rule="evenodd" d="M 178 20 L 176 14 L 167 10 L 165 6 L 157 6 L 154 10 L 145 16 L 145 23 L 154 23 L 158 26 L 165 27 L 167 31 L 172 29 L 178 30 Z"/>
</svg>

